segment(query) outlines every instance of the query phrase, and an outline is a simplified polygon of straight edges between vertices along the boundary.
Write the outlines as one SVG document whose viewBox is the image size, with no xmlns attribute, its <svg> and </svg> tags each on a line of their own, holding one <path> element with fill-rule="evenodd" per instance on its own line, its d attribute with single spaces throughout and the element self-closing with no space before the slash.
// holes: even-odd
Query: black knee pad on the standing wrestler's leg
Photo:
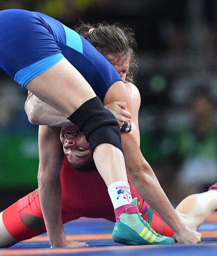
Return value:
<svg viewBox="0 0 217 256">
<path fill-rule="evenodd" d="M 104 108 L 99 97 L 86 101 L 68 117 L 68 120 L 83 132 L 92 153 L 94 148 L 102 143 L 112 144 L 123 152 L 118 121 Z"/>
</svg>

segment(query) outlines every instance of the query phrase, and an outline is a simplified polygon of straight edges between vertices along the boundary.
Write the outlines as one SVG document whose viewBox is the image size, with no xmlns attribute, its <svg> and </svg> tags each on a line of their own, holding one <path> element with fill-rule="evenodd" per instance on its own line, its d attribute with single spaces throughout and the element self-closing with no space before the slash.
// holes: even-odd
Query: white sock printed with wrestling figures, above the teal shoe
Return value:
<svg viewBox="0 0 217 256">
<path fill-rule="evenodd" d="M 130 185 L 128 182 L 113 182 L 108 187 L 108 193 L 114 209 L 125 204 L 130 204 L 132 201 Z"/>
</svg>

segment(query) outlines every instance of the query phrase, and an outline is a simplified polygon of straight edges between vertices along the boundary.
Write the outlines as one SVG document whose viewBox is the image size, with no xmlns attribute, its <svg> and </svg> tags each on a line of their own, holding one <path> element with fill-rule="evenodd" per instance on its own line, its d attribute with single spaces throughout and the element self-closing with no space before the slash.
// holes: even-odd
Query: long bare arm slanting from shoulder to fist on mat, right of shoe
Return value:
<svg viewBox="0 0 217 256">
<path fill-rule="evenodd" d="M 134 97 L 133 108 L 128 95 L 125 94 L 123 85 L 112 86 L 105 96 L 104 103 L 111 101 L 125 101 L 127 110 L 132 113 L 131 133 L 122 133 L 122 146 L 125 153 L 125 164 L 128 175 L 138 193 L 154 208 L 164 221 L 174 230 L 180 243 L 197 243 L 199 241 L 197 234 L 192 234 L 190 229 L 184 225 L 177 212 L 172 207 L 170 201 L 161 188 L 153 170 L 148 162 L 145 161 L 139 148 L 138 131 L 138 108 L 140 104 L 140 95 Z M 129 90 L 128 90 L 129 93 Z M 136 105 L 136 103 L 139 104 Z M 137 106 L 137 110 L 136 110 Z M 197 237 L 196 237 L 197 236 Z"/>
</svg>

